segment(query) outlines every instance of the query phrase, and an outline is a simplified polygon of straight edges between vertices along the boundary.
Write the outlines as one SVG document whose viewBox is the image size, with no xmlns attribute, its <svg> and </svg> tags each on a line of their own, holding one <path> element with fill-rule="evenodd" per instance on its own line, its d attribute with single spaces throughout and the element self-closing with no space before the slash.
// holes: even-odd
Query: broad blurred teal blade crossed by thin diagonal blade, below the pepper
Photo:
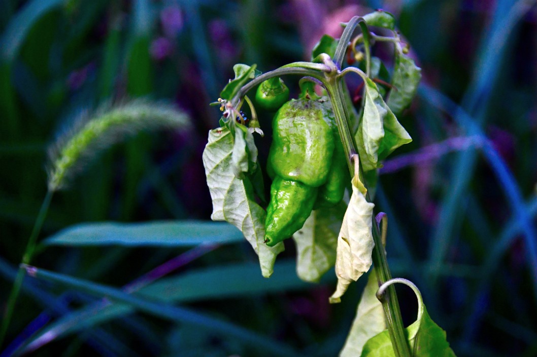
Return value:
<svg viewBox="0 0 537 357">
<path fill-rule="evenodd" d="M 146 298 L 168 303 L 256 296 L 270 292 L 307 288 L 295 274 L 294 259 L 274 265 L 274 277 L 264 279 L 253 263 L 212 266 L 188 271 L 177 277 L 160 279 L 138 292 Z M 73 311 L 49 324 L 32 339 L 33 345 L 47 343 L 47 338 L 61 338 L 91 326 L 132 313 L 134 307 L 122 303 L 93 304 Z"/>
</svg>

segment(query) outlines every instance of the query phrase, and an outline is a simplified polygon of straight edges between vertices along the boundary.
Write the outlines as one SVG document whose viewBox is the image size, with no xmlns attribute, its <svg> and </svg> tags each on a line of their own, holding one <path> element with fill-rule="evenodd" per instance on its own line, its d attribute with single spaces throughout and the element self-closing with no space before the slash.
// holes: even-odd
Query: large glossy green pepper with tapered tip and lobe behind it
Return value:
<svg viewBox="0 0 537 357">
<path fill-rule="evenodd" d="M 267 169 L 274 181 L 265 221 L 265 242 L 271 247 L 302 228 L 314 206 L 337 204 L 349 182 L 328 101 L 291 100 L 275 114 L 272 126 Z"/>
</svg>

